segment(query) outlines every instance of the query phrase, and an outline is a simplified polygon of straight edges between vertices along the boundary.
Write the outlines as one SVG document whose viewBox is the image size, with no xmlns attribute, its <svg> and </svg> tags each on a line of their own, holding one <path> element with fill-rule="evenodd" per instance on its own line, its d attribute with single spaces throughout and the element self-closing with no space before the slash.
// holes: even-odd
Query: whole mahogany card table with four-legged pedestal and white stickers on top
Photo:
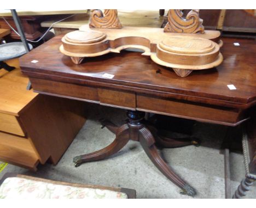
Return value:
<svg viewBox="0 0 256 208">
<path fill-rule="evenodd" d="M 177 147 L 197 144 L 197 141 L 159 136 L 154 126 L 144 122 L 144 112 L 227 126 L 253 120 L 252 112 L 256 104 L 255 40 L 222 38 L 222 64 L 181 78 L 170 68 L 154 63 L 150 57 L 141 56 L 141 52 L 108 53 L 86 58 L 81 64 L 75 65 L 59 51 L 62 36 L 56 36 L 20 58 L 21 70 L 30 78 L 33 90 L 46 95 L 124 108 L 129 118 L 128 123 L 121 127 L 110 121 L 102 121 L 116 134 L 115 140 L 102 150 L 75 157 L 76 166 L 102 160 L 119 151 L 132 139 L 141 143 L 155 166 L 184 194 L 193 196 L 196 194 L 194 188 L 168 167 L 155 144 Z M 234 42 L 240 45 L 236 46 Z M 251 129 L 255 129 L 255 122 Z M 251 185 L 256 172 L 255 135 L 254 131 L 247 139 L 247 186 Z M 246 186 L 242 189 L 246 189 Z"/>
</svg>

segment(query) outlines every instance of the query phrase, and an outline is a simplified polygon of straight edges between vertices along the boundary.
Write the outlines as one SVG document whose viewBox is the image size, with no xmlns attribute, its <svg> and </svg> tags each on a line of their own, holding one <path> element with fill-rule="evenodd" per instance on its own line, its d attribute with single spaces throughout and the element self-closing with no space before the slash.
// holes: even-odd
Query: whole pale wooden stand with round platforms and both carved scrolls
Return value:
<svg viewBox="0 0 256 208">
<path fill-rule="evenodd" d="M 180 77 L 188 76 L 193 70 L 216 67 L 223 61 L 219 52 L 220 33 L 204 30 L 199 10 L 191 10 L 186 19 L 180 10 L 170 10 L 164 31 L 121 27 L 117 10 L 106 10 L 104 14 L 94 10 L 89 26 L 82 26 L 62 38 L 60 51 L 71 57 L 73 63 L 80 64 L 85 57 L 138 48 L 155 63 L 173 68 Z"/>
</svg>

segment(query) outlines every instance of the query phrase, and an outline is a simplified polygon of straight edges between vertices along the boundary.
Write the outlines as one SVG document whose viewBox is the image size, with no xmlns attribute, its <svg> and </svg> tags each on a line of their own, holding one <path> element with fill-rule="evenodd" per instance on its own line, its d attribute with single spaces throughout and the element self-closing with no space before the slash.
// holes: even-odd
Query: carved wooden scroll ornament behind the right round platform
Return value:
<svg viewBox="0 0 256 208">
<path fill-rule="evenodd" d="M 181 9 L 170 9 L 168 22 L 164 32 L 171 33 L 204 33 L 203 20 L 199 18 L 199 9 L 192 9 L 186 18 L 183 17 Z"/>
</svg>

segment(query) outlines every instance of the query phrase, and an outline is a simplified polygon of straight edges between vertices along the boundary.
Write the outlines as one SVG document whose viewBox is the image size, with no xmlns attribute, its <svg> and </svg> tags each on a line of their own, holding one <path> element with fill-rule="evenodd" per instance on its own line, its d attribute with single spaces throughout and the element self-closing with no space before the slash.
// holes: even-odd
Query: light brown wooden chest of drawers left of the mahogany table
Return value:
<svg viewBox="0 0 256 208">
<path fill-rule="evenodd" d="M 56 164 L 85 123 L 84 105 L 26 90 L 18 59 L 8 63 L 16 69 L 0 71 L 0 160 L 32 170 Z"/>
</svg>

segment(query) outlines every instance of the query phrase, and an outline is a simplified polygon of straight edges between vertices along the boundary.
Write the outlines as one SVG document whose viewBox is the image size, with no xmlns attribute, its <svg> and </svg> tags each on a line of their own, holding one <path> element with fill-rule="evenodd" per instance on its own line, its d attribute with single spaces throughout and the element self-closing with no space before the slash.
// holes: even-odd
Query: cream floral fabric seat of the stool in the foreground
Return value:
<svg viewBox="0 0 256 208">
<path fill-rule="evenodd" d="M 0 199 L 127 199 L 122 192 L 11 177 L 0 186 Z"/>
</svg>

